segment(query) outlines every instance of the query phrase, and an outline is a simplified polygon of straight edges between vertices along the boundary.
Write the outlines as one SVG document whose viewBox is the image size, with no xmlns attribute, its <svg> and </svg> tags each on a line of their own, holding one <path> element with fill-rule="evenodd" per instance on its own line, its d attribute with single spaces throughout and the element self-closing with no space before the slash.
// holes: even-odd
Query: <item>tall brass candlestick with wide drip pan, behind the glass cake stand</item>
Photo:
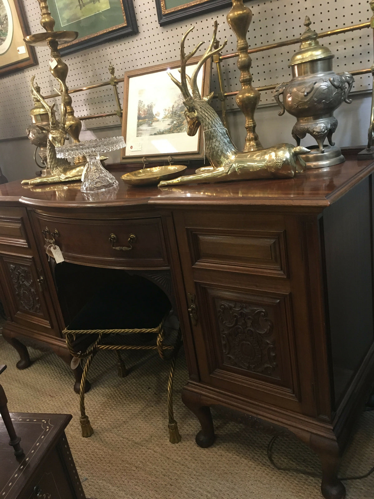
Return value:
<svg viewBox="0 0 374 499">
<path fill-rule="evenodd" d="M 77 31 L 53 31 L 55 21 L 49 12 L 47 0 L 38 0 L 41 20 L 40 24 L 45 29 L 45 33 L 36 33 L 26 36 L 24 41 L 28 45 L 33 46 L 48 46 L 51 50 L 51 60 L 49 61 L 49 71 L 52 76 L 60 83 L 60 94 L 64 94 L 64 103 L 66 105 L 66 132 L 73 139 L 73 142 L 79 142 L 79 133 L 82 128 L 81 121 L 74 116 L 74 109 L 72 108 L 72 100 L 68 93 L 66 85 L 66 77 L 68 73 L 68 66 L 61 60 L 61 54 L 58 51 L 58 43 L 67 43 L 75 40 L 78 36 Z M 77 157 L 74 159 L 75 164 L 85 161 L 84 157 Z"/>
</svg>

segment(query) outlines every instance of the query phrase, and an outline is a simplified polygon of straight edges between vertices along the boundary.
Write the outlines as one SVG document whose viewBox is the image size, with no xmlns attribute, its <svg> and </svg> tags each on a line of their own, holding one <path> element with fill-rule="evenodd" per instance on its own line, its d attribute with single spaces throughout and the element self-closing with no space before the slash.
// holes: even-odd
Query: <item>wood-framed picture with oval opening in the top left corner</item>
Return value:
<svg viewBox="0 0 374 499">
<path fill-rule="evenodd" d="M 21 0 L 0 0 L 0 76 L 37 64 L 35 49 L 25 44 L 29 33 Z"/>
</svg>

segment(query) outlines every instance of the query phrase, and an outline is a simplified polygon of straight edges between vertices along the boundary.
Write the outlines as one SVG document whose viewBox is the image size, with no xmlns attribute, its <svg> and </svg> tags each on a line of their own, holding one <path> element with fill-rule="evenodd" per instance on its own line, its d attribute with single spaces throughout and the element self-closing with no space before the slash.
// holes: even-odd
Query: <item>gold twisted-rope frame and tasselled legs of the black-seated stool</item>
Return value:
<svg viewBox="0 0 374 499">
<path fill-rule="evenodd" d="M 88 416 L 86 415 L 86 408 L 84 405 L 84 390 L 86 386 L 86 379 L 88 369 L 90 368 L 91 362 L 96 355 L 98 350 L 115 350 L 118 356 L 118 374 L 120 377 L 124 377 L 127 374 L 126 366 L 121 358 L 120 350 L 157 350 L 160 357 L 164 360 L 166 358 L 165 351 L 170 351 L 170 371 L 168 380 L 168 417 L 169 417 L 169 441 L 172 444 L 178 444 L 181 441 L 181 435 L 178 430 L 177 421 L 174 419 L 173 410 L 173 381 L 174 381 L 174 369 L 177 360 L 178 351 L 182 344 L 181 329 L 178 330 L 177 339 L 174 345 L 164 345 L 164 322 L 167 316 L 163 318 L 158 327 L 152 329 L 79 329 L 79 330 L 68 330 L 64 329 L 62 332 L 65 334 L 66 345 L 69 349 L 71 355 L 75 358 L 83 359 L 87 357 L 86 365 L 83 369 L 82 379 L 80 383 L 79 392 L 79 406 L 80 406 L 80 424 L 82 427 L 82 437 L 91 437 L 93 434 L 93 429 Z M 156 345 L 102 345 L 100 344 L 103 335 L 105 334 L 134 334 L 134 333 L 154 333 L 157 334 L 157 344 Z M 82 354 L 74 350 L 72 342 L 75 341 L 77 335 L 83 334 L 98 334 L 95 342 L 90 345 L 87 350 Z"/>
</svg>

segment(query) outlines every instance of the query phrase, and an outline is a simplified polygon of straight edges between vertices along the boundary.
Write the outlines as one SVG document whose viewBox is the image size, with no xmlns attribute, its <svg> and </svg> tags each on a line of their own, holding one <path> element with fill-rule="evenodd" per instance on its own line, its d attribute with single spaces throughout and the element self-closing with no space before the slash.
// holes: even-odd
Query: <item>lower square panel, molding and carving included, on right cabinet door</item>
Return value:
<svg viewBox="0 0 374 499">
<path fill-rule="evenodd" d="M 261 398 L 299 400 L 290 296 L 196 283 L 207 353 L 202 381 Z M 255 394 L 255 392 L 259 392 Z"/>
</svg>

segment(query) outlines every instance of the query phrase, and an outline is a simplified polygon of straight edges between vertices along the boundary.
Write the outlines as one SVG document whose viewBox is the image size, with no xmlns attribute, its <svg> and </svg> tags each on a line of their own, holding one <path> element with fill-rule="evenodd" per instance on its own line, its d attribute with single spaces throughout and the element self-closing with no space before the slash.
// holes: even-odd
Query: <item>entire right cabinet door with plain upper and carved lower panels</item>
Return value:
<svg viewBox="0 0 374 499">
<path fill-rule="evenodd" d="M 200 382 L 314 414 L 297 218 L 186 212 L 176 220 Z"/>
</svg>

